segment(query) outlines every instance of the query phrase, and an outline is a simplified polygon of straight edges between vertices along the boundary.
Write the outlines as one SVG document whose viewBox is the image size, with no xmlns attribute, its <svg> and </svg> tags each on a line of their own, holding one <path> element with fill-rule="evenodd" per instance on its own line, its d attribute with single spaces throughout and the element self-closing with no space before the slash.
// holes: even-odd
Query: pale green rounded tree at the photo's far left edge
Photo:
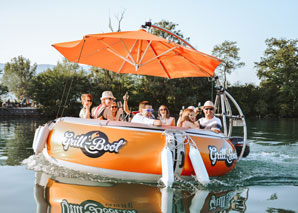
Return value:
<svg viewBox="0 0 298 213">
<path fill-rule="evenodd" d="M 31 66 L 29 59 L 23 56 L 15 57 L 4 66 L 2 82 L 17 98 L 28 98 L 28 88 L 35 76 L 37 64 Z"/>
</svg>

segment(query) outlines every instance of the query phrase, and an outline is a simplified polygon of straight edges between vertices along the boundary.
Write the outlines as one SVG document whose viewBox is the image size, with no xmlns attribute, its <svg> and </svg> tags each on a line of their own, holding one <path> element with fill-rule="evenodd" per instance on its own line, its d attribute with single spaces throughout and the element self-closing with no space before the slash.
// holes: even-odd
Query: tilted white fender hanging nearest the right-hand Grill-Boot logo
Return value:
<svg viewBox="0 0 298 213">
<path fill-rule="evenodd" d="M 195 170 L 197 180 L 199 183 L 207 185 L 210 182 L 210 179 L 200 151 L 197 148 L 190 146 L 189 158 Z"/>
</svg>

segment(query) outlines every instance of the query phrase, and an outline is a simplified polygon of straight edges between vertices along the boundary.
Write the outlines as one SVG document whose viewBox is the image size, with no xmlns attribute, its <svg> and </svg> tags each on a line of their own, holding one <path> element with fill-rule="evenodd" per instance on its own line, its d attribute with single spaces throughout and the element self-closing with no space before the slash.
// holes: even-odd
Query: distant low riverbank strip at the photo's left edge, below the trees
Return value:
<svg viewBox="0 0 298 213">
<path fill-rule="evenodd" d="M 0 116 L 2 117 L 35 117 L 39 116 L 39 109 L 35 107 L 0 107 Z"/>
</svg>

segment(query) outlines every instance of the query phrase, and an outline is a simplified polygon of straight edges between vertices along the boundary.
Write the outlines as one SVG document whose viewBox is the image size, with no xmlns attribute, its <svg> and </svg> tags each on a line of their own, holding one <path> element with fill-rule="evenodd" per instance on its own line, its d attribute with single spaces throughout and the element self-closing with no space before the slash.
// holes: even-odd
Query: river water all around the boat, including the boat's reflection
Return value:
<svg viewBox="0 0 298 213">
<path fill-rule="evenodd" d="M 298 121 L 248 120 L 250 155 L 204 188 L 103 180 L 31 148 L 40 119 L 0 118 L 0 212 L 298 212 Z M 125 209 L 125 210 L 123 210 Z"/>
</svg>

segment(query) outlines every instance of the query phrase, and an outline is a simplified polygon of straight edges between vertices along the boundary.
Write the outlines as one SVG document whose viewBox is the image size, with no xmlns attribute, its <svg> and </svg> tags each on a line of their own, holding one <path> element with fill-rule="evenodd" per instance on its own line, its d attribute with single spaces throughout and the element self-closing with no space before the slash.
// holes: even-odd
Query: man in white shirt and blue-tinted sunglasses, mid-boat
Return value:
<svg viewBox="0 0 298 213">
<path fill-rule="evenodd" d="M 139 104 L 139 113 L 132 118 L 131 122 L 161 126 L 160 120 L 152 119 L 152 112 L 152 105 L 148 101 L 142 101 Z"/>
</svg>

